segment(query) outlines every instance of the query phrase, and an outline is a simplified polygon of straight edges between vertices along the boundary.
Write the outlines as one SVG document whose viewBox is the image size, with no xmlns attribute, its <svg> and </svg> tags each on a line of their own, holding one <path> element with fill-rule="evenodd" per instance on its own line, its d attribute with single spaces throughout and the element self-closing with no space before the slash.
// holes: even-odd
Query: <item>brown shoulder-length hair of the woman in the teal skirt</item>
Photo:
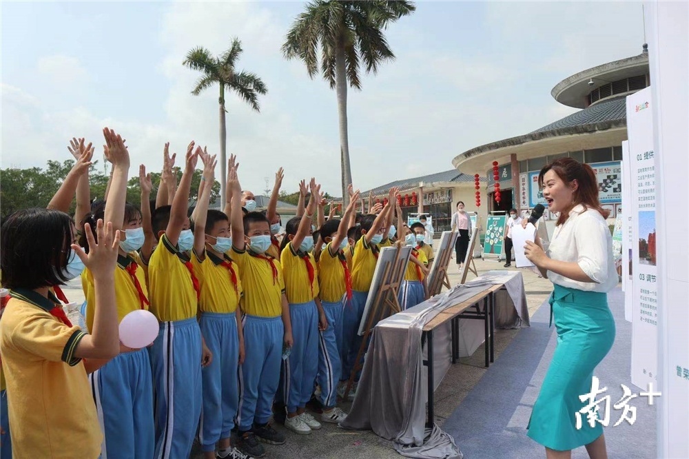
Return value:
<svg viewBox="0 0 689 459">
<path fill-rule="evenodd" d="M 579 186 L 572 196 L 572 207 L 581 204 L 584 206 L 584 212 L 588 209 L 593 209 L 597 210 L 603 218 L 608 218 L 610 211 L 601 207 L 601 203 L 598 200 L 598 181 L 590 165 L 579 163 L 579 161 L 571 158 L 556 159 L 552 163 L 545 165 L 538 174 L 539 187 L 543 187 L 543 178 L 549 170 L 553 170 L 565 185 L 569 185 L 575 180 L 577 181 Z M 567 218 L 569 218 L 569 210 L 560 212 L 555 225 L 562 225 L 567 221 Z"/>
</svg>

